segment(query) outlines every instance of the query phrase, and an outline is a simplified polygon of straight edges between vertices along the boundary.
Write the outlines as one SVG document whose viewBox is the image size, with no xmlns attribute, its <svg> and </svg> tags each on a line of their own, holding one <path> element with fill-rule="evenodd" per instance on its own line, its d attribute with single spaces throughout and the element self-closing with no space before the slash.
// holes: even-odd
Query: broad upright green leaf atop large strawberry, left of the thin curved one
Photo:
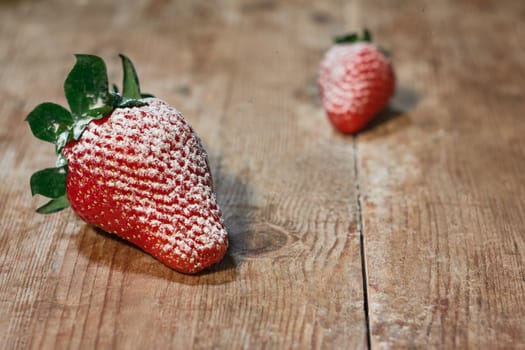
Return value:
<svg viewBox="0 0 525 350">
<path fill-rule="evenodd" d="M 86 111 L 103 106 L 108 98 L 106 64 L 97 56 L 75 55 L 77 62 L 64 83 L 71 112 L 80 118 Z"/>
</svg>

